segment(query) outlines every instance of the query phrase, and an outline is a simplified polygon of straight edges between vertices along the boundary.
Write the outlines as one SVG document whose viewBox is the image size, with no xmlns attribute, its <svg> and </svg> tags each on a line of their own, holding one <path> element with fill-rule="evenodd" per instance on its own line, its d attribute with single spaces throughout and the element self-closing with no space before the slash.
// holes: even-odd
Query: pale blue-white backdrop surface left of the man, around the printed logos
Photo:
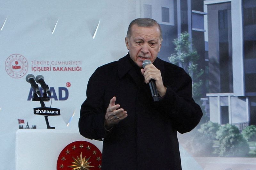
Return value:
<svg viewBox="0 0 256 170">
<path fill-rule="evenodd" d="M 40 107 L 40 103 L 27 101 L 30 84 L 25 81 L 26 75 L 43 75 L 57 96 L 59 87 L 68 90 L 67 100 L 52 100 L 52 107 L 60 108 L 61 116 L 48 119 L 56 129 L 77 129 L 89 77 L 100 65 L 118 60 L 128 52 L 124 37 L 129 23 L 139 17 L 135 4 L 135 0 L 0 0 L 0 169 L 15 168 L 17 119 L 25 120 L 25 124 L 20 125 L 26 126 L 28 122 L 30 127 L 46 129 L 44 117 L 33 114 L 33 107 Z M 5 70 L 6 59 L 12 54 L 22 55 L 28 61 L 28 71 L 21 78 L 12 78 Z M 32 71 L 32 65 L 52 69 L 77 66 L 77 63 L 52 65 L 54 61 L 80 62 L 78 66 L 82 71 Z M 66 86 L 67 82 L 71 83 L 70 87 Z M 50 102 L 45 104 L 50 106 Z"/>
</svg>

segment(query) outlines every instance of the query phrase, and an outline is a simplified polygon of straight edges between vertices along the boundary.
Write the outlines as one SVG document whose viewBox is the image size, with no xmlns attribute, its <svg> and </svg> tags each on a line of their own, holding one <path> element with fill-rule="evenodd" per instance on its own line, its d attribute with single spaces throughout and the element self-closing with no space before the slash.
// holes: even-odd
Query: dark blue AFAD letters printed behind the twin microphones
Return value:
<svg viewBox="0 0 256 170">
<path fill-rule="evenodd" d="M 43 88 L 39 87 L 39 90 L 43 96 Z M 67 100 L 68 99 L 68 89 L 66 87 L 59 87 L 58 88 L 58 96 L 56 94 L 56 91 L 54 87 L 50 87 L 50 92 L 51 92 L 51 98 L 54 100 Z M 30 91 L 28 93 L 28 100 L 31 100 L 33 98 L 34 90 L 33 88 L 30 88 Z M 41 96 L 41 97 L 42 97 Z"/>
</svg>

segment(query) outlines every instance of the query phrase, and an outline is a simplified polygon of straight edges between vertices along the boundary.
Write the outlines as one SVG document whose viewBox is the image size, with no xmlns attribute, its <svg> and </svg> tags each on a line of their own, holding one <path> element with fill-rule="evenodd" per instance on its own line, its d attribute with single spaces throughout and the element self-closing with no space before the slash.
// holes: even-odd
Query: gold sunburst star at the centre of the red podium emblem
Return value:
<svg viewBox="0 0 256 170">
<path fill-rule="evenodd" d="M 73 157 L 72 157 L 73 158 Z M 85 157 L 83 158 L 82 157 L 82 152 L 80 153 L 80 158 L 78 158 L 77 156 L 77 159 L 73 158 L 74 162 L 72 162 L 72 166 L 68 166 L 70 168 L 73 168 L 73 170 L 89 170 L 90 167 L 94 167 L 94 166 L 90 166 L 89 164 L 91 162 L 88 162 L 88 160 L 90 159 L 91 157 L 85 159 Z"/>
</svg>

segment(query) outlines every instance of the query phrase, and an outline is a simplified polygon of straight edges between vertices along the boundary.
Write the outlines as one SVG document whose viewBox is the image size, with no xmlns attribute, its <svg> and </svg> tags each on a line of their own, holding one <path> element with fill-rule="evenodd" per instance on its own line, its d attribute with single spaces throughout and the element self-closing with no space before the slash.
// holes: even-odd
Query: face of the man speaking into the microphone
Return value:
<svg viewBox="0 0 256 170">
<path fill-rule="evenodd" d="M 125 37 L 125 44 L 139 67 L 142 67 L 144 60 L 153 63 L 162 45 L 160 30 L 158 26 L 141 27 L 135 24 L 131 27 L 131 37 Z"/>
</svg>

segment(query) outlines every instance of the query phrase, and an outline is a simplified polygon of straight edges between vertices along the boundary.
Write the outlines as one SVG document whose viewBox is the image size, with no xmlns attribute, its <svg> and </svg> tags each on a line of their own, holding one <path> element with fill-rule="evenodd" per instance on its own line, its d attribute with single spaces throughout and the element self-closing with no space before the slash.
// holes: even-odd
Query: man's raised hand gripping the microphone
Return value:
<svg viewBox="0 0 256 170">
<path fill-rule="evenodd" d="M 144 69 L 140 70 L 145 78 L 145 83 L 149 83 L 149 80 L 154 79 L 156 81 L 156 90 L 160 97 L 166 93 L 166 87 L 163 84 L 160 70 L 158 70 L 153 64 L 148 64 Z"/>
</svg>

